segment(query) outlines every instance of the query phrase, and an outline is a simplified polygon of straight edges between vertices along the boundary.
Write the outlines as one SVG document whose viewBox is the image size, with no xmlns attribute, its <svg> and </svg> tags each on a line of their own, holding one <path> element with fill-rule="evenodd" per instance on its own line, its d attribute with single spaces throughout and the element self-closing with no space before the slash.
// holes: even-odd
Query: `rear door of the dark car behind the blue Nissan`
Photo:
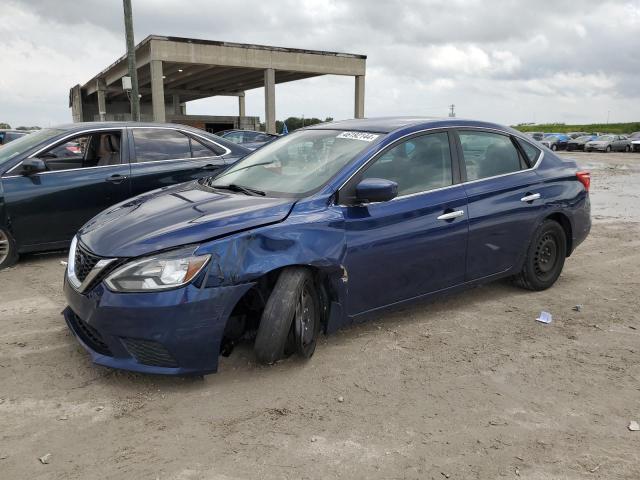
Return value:
<svg viewBox="0 0 640 480">
<path fill-rule="evenodd" d="M 167 127 L 129 128 L 132 191 L 134 195 L 156 188 L 216 174 L 225 167 L 216 147 L 195 134 Z"/>
</svg>

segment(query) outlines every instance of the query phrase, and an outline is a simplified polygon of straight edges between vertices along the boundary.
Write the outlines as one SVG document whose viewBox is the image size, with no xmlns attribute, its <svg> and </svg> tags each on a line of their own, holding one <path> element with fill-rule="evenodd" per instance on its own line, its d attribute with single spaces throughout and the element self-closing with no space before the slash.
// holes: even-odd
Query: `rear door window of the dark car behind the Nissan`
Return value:
<svg viewBox="0 0 640 480">
<path fill-rule="evenodd" d="M 189 137 L 165 128 L 134 128 L 137 162 L 191 158 Z"/>
</svg>

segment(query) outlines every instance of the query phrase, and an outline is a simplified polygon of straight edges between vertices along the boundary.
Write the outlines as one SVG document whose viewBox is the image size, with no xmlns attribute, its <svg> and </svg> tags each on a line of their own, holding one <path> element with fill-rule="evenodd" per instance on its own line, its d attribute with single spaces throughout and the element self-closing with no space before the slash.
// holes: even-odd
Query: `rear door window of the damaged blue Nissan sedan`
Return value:
<svg viewBox="0 0 640 480">
<path fill-rule="evenodd" d="M 511 138 L 498 133 L 459 131 L 467 180 L 495 177 L 523 168 Z"/>
</svg>

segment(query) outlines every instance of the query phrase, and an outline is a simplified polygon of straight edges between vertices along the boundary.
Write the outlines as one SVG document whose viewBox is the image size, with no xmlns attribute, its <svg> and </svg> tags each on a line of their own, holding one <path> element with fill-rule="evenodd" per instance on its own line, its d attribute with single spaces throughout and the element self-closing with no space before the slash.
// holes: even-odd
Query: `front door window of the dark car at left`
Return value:
<svg viewBox="0 0 640 480">
<path fill-rule="evenodd" d="M 120 164 L 120 132 L 96 132 L 59 143 L 38 154 L 47 170 L 71 170 Z"/>
</svg>

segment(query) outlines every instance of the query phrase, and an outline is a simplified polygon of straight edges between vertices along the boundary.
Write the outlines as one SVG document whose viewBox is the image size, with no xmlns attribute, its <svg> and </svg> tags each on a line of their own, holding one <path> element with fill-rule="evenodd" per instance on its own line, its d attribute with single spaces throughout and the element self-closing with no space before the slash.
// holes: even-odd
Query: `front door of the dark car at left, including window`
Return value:
<svg viewBox="0 0 640 480">
<path fill-rule="evenodd" d="M 67 138 L 37 155 L 47 170 L 20 166 L 2 179 L 11 230 L 24 246 L 71 240 L 91 217 L 131 195 L 120 130 Z"/>
</svg>

